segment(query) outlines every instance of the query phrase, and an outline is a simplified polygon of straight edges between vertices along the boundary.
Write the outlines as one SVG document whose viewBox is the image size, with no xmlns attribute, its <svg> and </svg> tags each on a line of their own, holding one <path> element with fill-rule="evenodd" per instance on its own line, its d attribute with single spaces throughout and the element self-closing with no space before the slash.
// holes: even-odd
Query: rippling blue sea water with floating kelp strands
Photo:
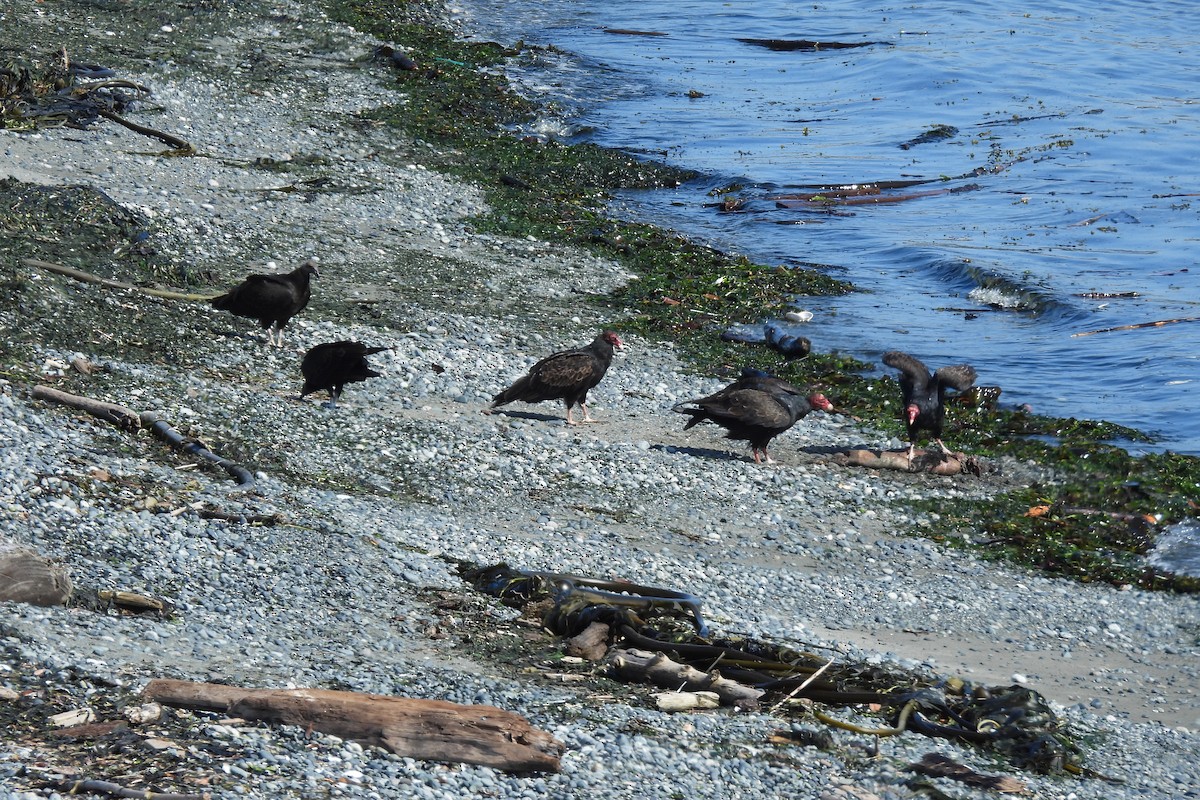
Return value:
<svg viewBox="0 0 1200 800">
<path fill-rule="evenodd" d="M 466 11 L 485 38 L 565 50 L 515 72 L 553 102 L 545 131 L 706 175 L 624 196 L 618 212 L 764 263 L 827 264 L 863 288 L 802 301 L 814 349 L 967 361 L 979 383 L 1003 387 L 1002 402 L 1159 437 L 1135 451 L 1200 455 L 1200 323 L 1073 336 L 1200 317 L 1193 4 L 514 0 Z M 874 43 L 785 52 L 739 38 Z M 956 133 L 901 146 L 934 126 Z M 978 188 L 832 213 L 772 199 L 877 180 L 932 181 L 896 194 Z M 734 185 L 742 212 L 706 207 Z M 1085 296 L 1126 293 L 1136 296 Z"/>
</svg>

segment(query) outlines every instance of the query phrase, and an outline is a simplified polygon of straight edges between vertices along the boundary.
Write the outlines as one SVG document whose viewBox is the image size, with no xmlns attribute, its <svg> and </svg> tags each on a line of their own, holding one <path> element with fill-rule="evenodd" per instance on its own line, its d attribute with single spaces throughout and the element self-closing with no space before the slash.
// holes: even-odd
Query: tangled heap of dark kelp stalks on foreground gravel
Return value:
<svg viewBox="0 0 1200 800">
<path fill-rule="evenodd" d="M 540 614 L 541 626 L 557 636 L 577 636 L 604 622 L 612 645 L 662 652 L 701 672 L 719 668 L 724 679 L 763 690 L 763 704 L 772 711 L 811 711 L 827 724 L 874 735 L 913 730 L 954 739 L 1034 772 L 1085 771 L 1081 750 L 1063 722 L 1042 694 L 1025 686 L 984 686 L 899 667 L 836 662 L 751 637 L 709 636 L 700 620 L 700 600 L 688 593 L 580 576 L 564 583 L 563 576 L 506 564 L 463 563 L 460 572 L 476 590 Z M 613 591 L 596 591 L 599 585 Z M 878 706 L 888 727 L 841 722 L 817 704 Z"/>
</svg>

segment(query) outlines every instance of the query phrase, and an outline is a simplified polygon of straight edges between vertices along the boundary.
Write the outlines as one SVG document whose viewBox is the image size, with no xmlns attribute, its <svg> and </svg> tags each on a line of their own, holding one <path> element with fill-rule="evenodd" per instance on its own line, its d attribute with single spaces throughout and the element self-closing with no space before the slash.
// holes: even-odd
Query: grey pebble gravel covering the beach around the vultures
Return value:
<svg viewBox="0 0 1200 800">
<path fill-rule="evenodd" d="M 756 465 L 715 428 L 684 433 L 670 414 L 724 381 L 688 374 L 670 343 L 636 336 L 592 395 L 599 423 L 568 428 L 551 404 L 480 414 L 534 360 L 589 341 L 606 321 L 574 301 L 578 291 L 629 276 L 553 243 L 474 233 L 481 192 L 422 167 L 422 145 L 344 124 L 391 91 L 386 71 L 365 60 L 376 42 L 305 2 L 272 8 L 229 12 L 222 35 L 199 48 L 203 65 L 131 66 L 162 108 L 156 125 L 212 157 L 149 157 L 144 139 L 115 127 L 0 132 L 0 176 L 89 184 L 173 221 L 161 246 L 220 276 L 214 293 L 308 255 L 322 266 L 313 305 L 286 330 L 283 349 L 247 339 L 247 320 L 203 305 L 24 276 L 43 282 L 54 314 L 74 313 L 73 294 L 116 296 L 98 330 L 137 313 L 178 335 L 170 359 L 130 359 L 102 336 L 46 341 L 25 368 L 154 410 L 257 470 L 257 483 L 238 488 L 157 441 L 0 380 L 0 533 L 68 565 L 78 587 L 144 593 L 176 609 L 156 620 L 5 604 L 0 687 L 29 702 L 52 682 L 84 704 L 174 676 L 490 703 L 566 746 L 559 774 L 514 776 L 172 712 L 168 733 L 182 741 L 168 739 L 163 752 L 206 776 L 218 799 L 868 800 L 917 796 L 904 768 L 929 751 L 983 772 L 1009 769 L 916 734 L 876 742 L 838 732 L 832 751 L 778 747 L 767 736 L 790 724 L 782 717 L 667 715 L 636 687 L 533 680 L 512 666 L 521 656 L 490 660 L 480 642 L 534 646 L 515 612 L 473 595 L 455 569 L 458 559 L 506 561 L 686 590 L 719 631 L 839 660 L 1026 682 L 1087 742 L 1085 763 L 1123 781 L 1019 774 L 1032 796 L 1200 796 L 1195 597 L 1067 583 L 907 535 L 941 522 L 912 511 L 912 500 L 986 498 L 1048 471 L 1019 463 L 983 479 L 852 470 L 828 453 L 899 443 L 821 413 L 776 440 L 778 464 Z M 323 48 L 305 47 L 314 38 Z M 286 88 L 245 91 L 239 65 L 250 43 L 288 64 Z M 340 191 L 264 192 L 270 181 L 246 167 L 312 155 Z M 376 315 L 354 311 L 364 302 Z M 18 314 L 0 302 L 0 327 L 25 324 Z M 296 402 L 300 354 L 335 337 L 390 347 L 371 356 L 383 377 L 349 386 L 336 410 L 320 398 Z M 95 367 L 90 378 L 67 366 L 77 356 Z M 275 513 L 282 524 L 157 512 L 184 504 Z M 0 798 L 59 796 L 42 788 L 68 771 L 55 747 L 0 733 Z"/>
</svg>

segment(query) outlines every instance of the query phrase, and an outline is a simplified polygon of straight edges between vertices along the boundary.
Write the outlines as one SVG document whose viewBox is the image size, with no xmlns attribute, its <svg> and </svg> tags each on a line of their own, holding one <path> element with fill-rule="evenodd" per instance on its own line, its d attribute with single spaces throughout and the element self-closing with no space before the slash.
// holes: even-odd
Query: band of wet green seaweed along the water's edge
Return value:
<svg viewBox="0 0 1200 800">
<path fill-rule="evenodd" d="M 838 353 L 786 361 L 769 348 L 719 336 L 731 324 L 778 315 L 800 296 L 844 294 L 852 284 L 830 277 L 824 265 L 755 264 L 614 218 L 607 205 L 613 192 L 674 186 L 695 175 L 628 152 L 523 134 L 522 126 L 545 109 L 517 95 L 500 65 L 529 48 L 458 41 L 430 8 L 419 1 L 348 0 L 332 2 L 330 14 L 408 50 L 418 68 L 396 72 L 403 102 L 372 112 L 371 120 L 427 145 L 422 158 L 430 166 L 484 188 L 490 211 L 473 221 L 479 230 L 572 243 L 622 263 L 636 277 L 593 301 L 611 308 L 612 325 L 674 342 L 697 372 L 767 369 L 820 386 L 838 408 L 904 434 L 899 387 L 892 375 L 872 374 L 872 365 Z M 1028 155 L 996 149 L 991 160 L 1010 163 Z M 956 404 L 946 437 L 980 456 L 1051 467 L 1058 479 L 989 500 L 925 504 L 943 521 L 935 537 L 1078 581 L 1198 589 L 1195 578 L 1147 567 L 1140 557 L 1162 525 L 1195 515 L 1200 459 L 1135 457 L 1112 443 L 1151 441 L 1142 432 L 986 404 Z M 1036 506 L 1050 511 L 1026 516 Z M 1139 515 L 1153 522 L 1130 524 Z"/>
</svg>

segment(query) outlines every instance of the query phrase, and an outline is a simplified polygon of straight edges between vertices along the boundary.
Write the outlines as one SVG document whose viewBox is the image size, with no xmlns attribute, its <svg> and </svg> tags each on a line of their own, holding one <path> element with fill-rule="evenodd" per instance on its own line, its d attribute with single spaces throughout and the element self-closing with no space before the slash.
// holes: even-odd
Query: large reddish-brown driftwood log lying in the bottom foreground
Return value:
<svg viewBox="0 0 1200 800">
<path fill-rule="evenodd" d="M 384 747 L 397 756 L 480 764 L 509 772 L 557 772 L 563 752 L 563 742 L 521 715 L 493 705 L 186 680 L 152 680 L 143 693 L 166 705 L 304 726 Z"/>
</svg>

